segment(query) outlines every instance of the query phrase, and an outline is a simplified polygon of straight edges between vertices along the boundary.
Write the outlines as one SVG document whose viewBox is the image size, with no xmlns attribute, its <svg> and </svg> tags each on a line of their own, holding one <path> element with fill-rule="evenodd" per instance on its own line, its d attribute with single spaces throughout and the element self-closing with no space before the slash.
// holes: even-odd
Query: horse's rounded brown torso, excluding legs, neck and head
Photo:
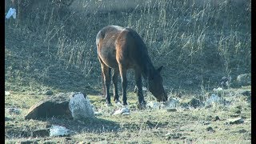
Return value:
<svg viewBox="0 0 256 144">
<path fill-rule="evenodd" d="M 98 56 L 110 67 L 122 62 L 127 67 L 140 65 L 147 59 L 147 49 L 139 34 L 130 28 L 106 26 L 96 38 Z"/>
</svg>

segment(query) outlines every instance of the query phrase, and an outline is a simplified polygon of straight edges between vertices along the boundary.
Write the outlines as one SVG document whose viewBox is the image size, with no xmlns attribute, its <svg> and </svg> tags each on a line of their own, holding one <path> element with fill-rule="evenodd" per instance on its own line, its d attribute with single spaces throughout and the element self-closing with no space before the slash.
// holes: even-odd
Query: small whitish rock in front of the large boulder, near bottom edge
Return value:
<svg viewBox="0 0 256 144">
<path fill-rule="evenodd" d="M 74 131 L 66 129 L 64 126 L 51 126 L 50 127 L 50 137 L 55 136 L 68 136 L 74 134 Z"/>
</svg>

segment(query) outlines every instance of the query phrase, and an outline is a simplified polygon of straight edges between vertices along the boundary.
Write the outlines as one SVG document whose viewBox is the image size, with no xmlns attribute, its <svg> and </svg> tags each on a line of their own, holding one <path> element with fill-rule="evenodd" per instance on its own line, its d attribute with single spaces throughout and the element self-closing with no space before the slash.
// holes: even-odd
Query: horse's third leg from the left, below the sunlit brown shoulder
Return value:
<svg viewBox="0 0 256 144">
<path fill-rule="evenodd" d="M 122 79 L 122 104 L 124 106 L 127 105 L 127 97 L 126 97 L 126 89 L 127 89 L 127 78 L 126 73 L 127 70 L 123 68 L 121 65 L 119 65 L 119 72 Z"/>
</svg>

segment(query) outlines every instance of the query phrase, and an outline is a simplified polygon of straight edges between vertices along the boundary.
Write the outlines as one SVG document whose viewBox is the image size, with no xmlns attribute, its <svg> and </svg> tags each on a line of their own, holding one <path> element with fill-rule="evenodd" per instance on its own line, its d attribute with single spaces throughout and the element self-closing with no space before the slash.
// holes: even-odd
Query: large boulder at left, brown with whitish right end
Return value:
<svg viewBox="0 0 256 144">
<path fill-rule="evenodd" d="M 53 116 L 74 119 L 92 118 L 94 110 L 89 98 L 85 98 L 82 93 L 61 93 L 31 106 L 25 119 L 51 118 Z"/>
</svg>

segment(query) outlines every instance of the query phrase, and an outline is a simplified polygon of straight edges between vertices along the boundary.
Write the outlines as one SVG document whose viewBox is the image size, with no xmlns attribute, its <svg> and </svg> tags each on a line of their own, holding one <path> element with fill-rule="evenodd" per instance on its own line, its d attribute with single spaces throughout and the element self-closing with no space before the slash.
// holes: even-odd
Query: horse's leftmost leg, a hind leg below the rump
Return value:
<svg viewBox="0 0 256 144">
<path fill-rule="evenodd" d="M 111 105 L 110 102 L 110 71 L 111 69 L 106 66 L 104 63 L 101 63 L 102 66 L 102 74 L 103 74 L 103 81 L 105 85 L 105 98 L 106 98 L 106 104 Z"/>
</svg>

